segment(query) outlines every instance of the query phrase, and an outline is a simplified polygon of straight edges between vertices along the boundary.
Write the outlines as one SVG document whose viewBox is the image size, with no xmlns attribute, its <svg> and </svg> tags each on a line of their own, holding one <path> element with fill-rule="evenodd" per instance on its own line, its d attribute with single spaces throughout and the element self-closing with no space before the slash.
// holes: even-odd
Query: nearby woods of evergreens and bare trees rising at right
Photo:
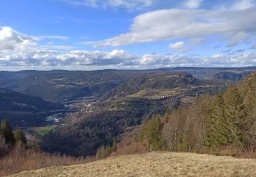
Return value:
<svg viewBox="0 0 256 177">
<path fill-rule="evenodd" d="M 153 116 L 133 138 L 125 137 L 119 153 L 141 144 L 147 150 L 226 153 L 256 157 L 256 73 L 188 108 Z M 130 145 L 133 144 L 133 145 Z M 118 151 L 118 150 L 117 150 Z"/>
</svg>

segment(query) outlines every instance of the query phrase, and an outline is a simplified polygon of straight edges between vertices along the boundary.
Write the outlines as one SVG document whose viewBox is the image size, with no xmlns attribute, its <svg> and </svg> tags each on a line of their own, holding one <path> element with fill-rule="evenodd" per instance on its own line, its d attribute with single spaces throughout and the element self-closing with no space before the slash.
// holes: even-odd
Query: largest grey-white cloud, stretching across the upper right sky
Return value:
<svg viewBox="0 0 256 177">
<path fill-rule="evenodd" d="M 255 33 L 256 7 L 246 10 L 158 10 L 134 18 L 130 32 L 94 46 L 122 46 L 171 39 L 203 38 L 210 35 L 232 37 Z M 236 43 L 236 42 L 233 42 Z"/>
</svg>

